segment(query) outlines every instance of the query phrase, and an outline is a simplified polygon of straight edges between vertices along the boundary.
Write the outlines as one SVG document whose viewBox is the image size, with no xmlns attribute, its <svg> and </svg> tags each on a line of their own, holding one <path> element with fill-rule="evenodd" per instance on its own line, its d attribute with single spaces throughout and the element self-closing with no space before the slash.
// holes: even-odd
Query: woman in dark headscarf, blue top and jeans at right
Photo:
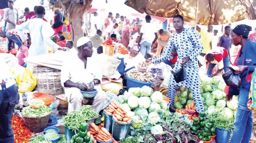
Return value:
<svg viewBox="0 0 256 143">
<path fill-rule="evenodd" d="M 248 39 L 251 30 L 252 27 L 242 24 L 235 27 L 231 33 L 233 44 L 241 45 L 234 62 L 234 65 L 239 67 L 235 74 L 241 77 L 241 85 L 238 90 L 234 87 L 225 89 L 227 101 L 231 100 L 233 95 L 238 95 L 238 109 L 231 143 L 249 143 L 252 134 L 252 111 L 246 106 L 252 73 L 256 68 L 256 42 Z"/>
</svg>

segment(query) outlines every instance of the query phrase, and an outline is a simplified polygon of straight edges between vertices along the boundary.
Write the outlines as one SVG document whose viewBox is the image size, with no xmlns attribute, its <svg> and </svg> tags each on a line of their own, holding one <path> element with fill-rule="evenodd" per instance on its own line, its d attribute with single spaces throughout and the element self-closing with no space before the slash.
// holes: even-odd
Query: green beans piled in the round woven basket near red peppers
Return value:
<svg viewBox="0 0 256 143">
<path fill-rule="evenodd" d="M 48 106 L 41 106 L 38 109 L 33 109 L 30 106 L 24 107 L 21 114 L 24 117 L 32 117 L 32 118 L 37 118 L 37 117 L 43 117 L 45 115 L 48 115 L 51 113 L 51 109 Z"/>
</svg>

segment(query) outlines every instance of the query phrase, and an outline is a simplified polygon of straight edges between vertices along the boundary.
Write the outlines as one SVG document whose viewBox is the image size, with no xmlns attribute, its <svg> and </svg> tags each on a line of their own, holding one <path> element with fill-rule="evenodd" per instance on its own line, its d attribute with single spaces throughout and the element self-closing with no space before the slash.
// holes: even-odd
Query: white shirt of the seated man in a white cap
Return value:
<svg viewBox="0 0 256 143">
<path fill-rule="evenodd" d="M 64 87 L 64 83 L 68 80 L 73 83 L 85 83 L 88 84 L 94 79 L 102 81 L 102 72 L 100 67 L 97 66 L 97 62 L 94 58 L 87 58 L 86 69 L 84 63 L 78 58 L 78 55 L 71 55 L 70 58 L 65 60 L 61 68 L 61 85 Z"/>
</svg>

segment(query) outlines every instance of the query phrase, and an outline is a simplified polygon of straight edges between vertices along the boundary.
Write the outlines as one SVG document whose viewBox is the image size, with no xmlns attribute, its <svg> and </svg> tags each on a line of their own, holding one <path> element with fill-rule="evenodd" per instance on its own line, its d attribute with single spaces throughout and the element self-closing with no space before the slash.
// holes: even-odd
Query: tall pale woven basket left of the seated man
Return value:
<svg viewBox="0 0 256 143">
<path fill-rule="evenodd" d="M 60 82 L 60 70 L 36 65 L 33 75 L 37 79 L 36 90 L 52 95 L 63 94 L 64 90 Z"/>
</svg>

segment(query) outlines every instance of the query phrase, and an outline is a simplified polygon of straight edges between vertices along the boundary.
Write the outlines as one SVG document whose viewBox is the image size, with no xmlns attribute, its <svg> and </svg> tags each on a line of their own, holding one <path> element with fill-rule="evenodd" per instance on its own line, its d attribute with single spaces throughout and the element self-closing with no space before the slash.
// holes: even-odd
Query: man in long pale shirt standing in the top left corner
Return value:
<svg viewBox="0 0 256 143">
<path fill-rule="evenodd" d="M 8 7 L 4 12 L 4 20 L 7 22 L 6 31 L 15 29 L 16 25 L 19 25 L 19 14 L 18 10 L 13 7 L 13 1 L 8 1 Z"/>
</svg>

